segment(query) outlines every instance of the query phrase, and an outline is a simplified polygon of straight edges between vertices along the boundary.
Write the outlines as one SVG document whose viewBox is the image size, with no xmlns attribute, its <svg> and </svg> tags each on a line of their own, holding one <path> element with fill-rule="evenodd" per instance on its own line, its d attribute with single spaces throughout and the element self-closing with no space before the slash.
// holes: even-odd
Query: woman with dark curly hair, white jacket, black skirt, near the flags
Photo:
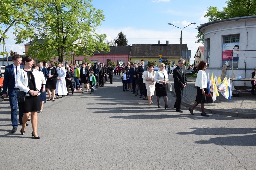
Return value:
<svg viewBox="0 0 256 170">
<path fill-rule="evenodd" d="M 207 62 L 206 61 L 201 61 L 198 66 L 197 66 L 197 79 L 195 86 L 197 86 L 197 96 L 194 105 L 189 108 L 189 112 L 193 114 L 193 109 L 200 103 L 201 104 L 201 115 L 202 116 L 209 116 L 204 112 L 204 103 L 206 103 L 206 97 L 205 94 L 207 94 L 207 75 L 206 72 L 204 71 L 207 68 Z"/>
</svg>

